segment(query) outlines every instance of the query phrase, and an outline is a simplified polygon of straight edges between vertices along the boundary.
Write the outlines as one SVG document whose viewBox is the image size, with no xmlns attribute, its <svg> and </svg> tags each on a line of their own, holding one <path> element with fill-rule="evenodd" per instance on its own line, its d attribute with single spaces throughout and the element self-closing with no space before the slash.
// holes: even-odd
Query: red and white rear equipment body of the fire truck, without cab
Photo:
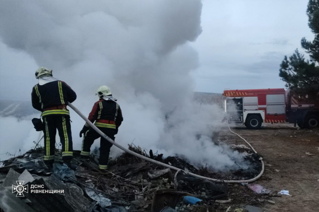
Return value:
<svg viewBox="0 0 319 212">
<path fill-rule="evenodd" d="M 260 129 L 263 122 L 286 122 L 285 89 L 225 89 L 224 109 L 229 123 Z"/>
</svg>

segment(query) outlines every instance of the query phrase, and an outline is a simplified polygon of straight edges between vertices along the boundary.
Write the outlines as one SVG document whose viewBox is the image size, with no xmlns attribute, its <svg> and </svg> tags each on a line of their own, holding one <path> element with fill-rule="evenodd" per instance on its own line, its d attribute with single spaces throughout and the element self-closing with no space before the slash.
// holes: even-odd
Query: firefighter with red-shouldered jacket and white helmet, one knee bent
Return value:
<svg viewBox="0 0 319 212">
<path fill-rule="evenodd" d="M 96 95 L 98 95 L 100 99 L 94 103 L 88 119 L 92 123 L 95 121 L 94 125 L 114 141 L 114 135 L 117 134 L 118 128 L 123 121 L 121 108 L 116 102 L 117 99 L 112 96 L 111 91 L 107 86 L 101 86 Z M 84 134 L 84 137 L 82 141 L 81 156 L 83 158 L 88 158 L 94 140 L 100 138 L 101 135 L 90 128 L 87 123 L 85 123 L 83 129 L 80 131 L 80 138 L 82 137 L 82 134 Z M 101 170 L 107 169 L 109 151 L 112 145 L 113 144 L 108 142 L 104 137 L 101 137 L 99 159 L 99 168 Z"/>
</svg>

